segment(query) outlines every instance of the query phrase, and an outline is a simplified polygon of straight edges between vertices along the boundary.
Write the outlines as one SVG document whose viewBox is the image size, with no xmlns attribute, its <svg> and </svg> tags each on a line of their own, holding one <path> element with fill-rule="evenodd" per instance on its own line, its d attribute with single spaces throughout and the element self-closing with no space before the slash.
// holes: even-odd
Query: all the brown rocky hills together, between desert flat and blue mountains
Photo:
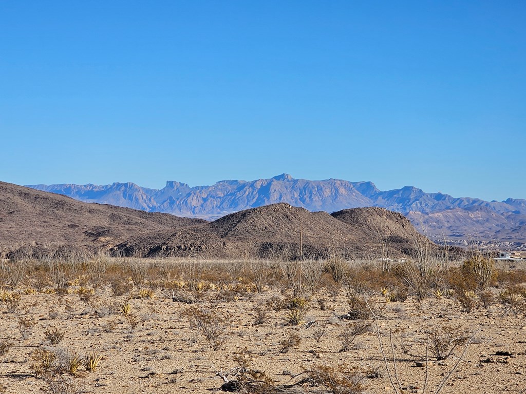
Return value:
<svg viewBox="0 0 526 394">
<path fill-rule="evenodd" d="M 401 214 L 381 208 L 310 212 L 286 203 L 232 213 L 213 222 L 88 204 L 0 183 L 4 251 L 74 245 L 127 256 L 209 258 L 396 256 L 424 239 Z"/>
</svg>

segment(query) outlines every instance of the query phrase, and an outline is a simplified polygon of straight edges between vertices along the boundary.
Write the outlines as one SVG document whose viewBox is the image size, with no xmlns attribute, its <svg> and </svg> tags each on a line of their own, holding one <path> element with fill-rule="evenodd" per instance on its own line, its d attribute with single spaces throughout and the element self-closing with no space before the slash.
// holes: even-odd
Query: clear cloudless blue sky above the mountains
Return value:
<svg viewBox="0 0 526 394">
<path fill-rule="evenodd" d="M 526 2 L 0 2 L 0 180 L 526 198 Z"/>
</svg>

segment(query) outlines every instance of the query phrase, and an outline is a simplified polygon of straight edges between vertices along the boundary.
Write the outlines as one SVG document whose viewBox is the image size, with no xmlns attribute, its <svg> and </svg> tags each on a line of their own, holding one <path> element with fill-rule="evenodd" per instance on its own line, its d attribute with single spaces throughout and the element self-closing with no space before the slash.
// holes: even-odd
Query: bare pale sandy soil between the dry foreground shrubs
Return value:
<svg viewBox="0 0 526 394">
<path fill-rule="evenodd" d="M 498 292 L 496 289 L 493 291 L 495 294 Z M 206 298 L 214 298 L 217 293 L 206 292 Z M 379 350 L 374 323 L 367 333 L 356 338 L 351 350 L 340 351 L 339 335 L 353 324 L 351 320 L 337 318 L 348 310 L 345 292 L 339 294 L 336 302 L 328 300 L 327 307 L 333 310 L 321 310 L 313 299 L 306 321 L 315 320 L 316 323 L 309 328 L 286 325 L 287 309 L 280 312 L 269 310 L 268 321 L 254 325 L 254 308 L 264 305 L 272 295 L 282 296 L 276 289 L 268 288 L 262 294 L 244 296 L 232 302 L 211 303 L 205 300 L 187 305 L 172 302 L 171 297 L 157 289 L 153 299 L 129 300 L 130 313 L 139 320 L 138 326 L 130 333 L 122 313 L 107 313 L 109 305 L 124 304 L 128 302 L 128 296 L 116 297 L 109 287 L 97 292 L 89 303 L 79 300 L 77 294 L 63 297 L 43 293 L 22 294 L 21 304 L 15 313 L 8 313 L 5 305 L 1 309 L 0 337 L 13 341 L 14 346 L 0 358 L 0 387 L 6 393 L 45 392 L 42 390 L 47 389 L 46 384 L 42 379 L 35 378 L 32 372 L 32 355 L 39 348 L 59 347 L 80 355 L 95 350 L 103 356 L 98 370 L 88 372 L 80 368 L 74 379 L 76 385 L 86 392 L 219 392 L 222 380 L 217 372 L 235 367 L 236 352 L 246 347 L 250 352 L 252 368 L 266 371 L 276 385 L 294 381 L 290 375 L 299 374 L 316 364 L 336 366 L 346 362 L 362 370 L 379 371 L 380 377 L 362 381 L 364 392 L 394 392 Z M 72 318 L 67 318 L 67 303 L 74 307 Z M 407 343 L 413 345 L 411 352 L 425 355 L 422 345 L 424 331 L 450 325 L 466 329 L 471 334 L 479 331 L 441 392 L 526 392 L 526 319 L 520 314 L 515 316 L 509 307 L 497 300 L 489 309 L 480 308 L 470 314 L 463 312 L 455 300 L 447 297 L 429 297 L 421 304 L 409 297 L 403 303 L 386 304 L 384 297 L 375 294 L 371 304 L 375 308 L 383 308 L 380 315 L 390 319 L 387 324 L 385 318 L 380 318 L 378 324 L 392 374 L 390 338 L 399 347 L 394 331 L 403 328 Z M 189 320 L 181 312 L 195 305 L 213 308 L 221 316 L 230 316 L 226 321 L 226 342 L 221 350 L 212 350 L 203 335 L 198 337 L 197 343 L 192 343 Z M 54 319 L 49 316 L 49 311 L 53 309 L 58 312 Z M 21 317 L 36 320 L 26 339 L 21 338 L 18 329 Z M 327 325 L 327 335 L 318 343 L 313 339 L 313 331 L 323 324 Z M 114 327 L 110 328 L 112 325 Z M 59 345 L 52 347 L 46 341 L 44 331 L 48 328 L 64 330 L 65 337 Z M 282 354 L 279 351 L 280 341 L 289 331 L 296 331 L 301 343 Z M 436 391 L 462 351 L 463 347 L 460 347 L 443 362 L 433 361 L 428 370 L 427 392 Z M 511 356 L 498 356 L 499 351 L 510 352 Z M 431 350 L 429 354 L 433 359 Z M 415 366 L 414 357 L 398 351 L 396 359 L 401 386 L 407 388 L 407 392 L 422 392 L 426 368 Z M 302 390 L 308 392 L 309 388 Z"/>
</svg>

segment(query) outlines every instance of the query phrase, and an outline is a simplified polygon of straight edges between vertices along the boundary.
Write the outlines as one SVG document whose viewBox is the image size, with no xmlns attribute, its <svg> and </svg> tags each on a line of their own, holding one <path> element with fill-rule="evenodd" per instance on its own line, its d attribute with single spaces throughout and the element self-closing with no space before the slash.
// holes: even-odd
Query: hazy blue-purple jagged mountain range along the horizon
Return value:
<svg viewBox="0 0 526 394">
<path fill-rule="evenodd" d="M 377 206 L 397 211 L 434 240 L 499 241 L 501 245 L 526 243 L 526 200 L 484 201 L 425 193 L 412 186 L 381 191 L 372 182 L 339 179 L 310 181 L 281 174 L 254 181 L 225 180 L 211 186 L 168 181 L 163 189 L 134 183 L 111 185 L 27 185 L 67 195 L 83 202 L 111 204 L 147 212 L 215 220 L 230 213 L 280 202 L 309 211 L 335 212 Z"/>
</svg>

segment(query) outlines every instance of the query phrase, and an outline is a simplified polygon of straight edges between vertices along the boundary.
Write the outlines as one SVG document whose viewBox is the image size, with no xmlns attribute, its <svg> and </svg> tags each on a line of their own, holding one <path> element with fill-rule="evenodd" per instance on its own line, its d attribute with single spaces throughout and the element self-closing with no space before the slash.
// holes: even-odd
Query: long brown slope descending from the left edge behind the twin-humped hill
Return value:
<svg viewBox="0 0 526 394">
<path fill-rule="evenodd" d="M 18 247 L 112 247 L 130 236 L 206 223 L 166 213 L 88 204 L 0 182 L 0 252 Z"/>
</svg>

